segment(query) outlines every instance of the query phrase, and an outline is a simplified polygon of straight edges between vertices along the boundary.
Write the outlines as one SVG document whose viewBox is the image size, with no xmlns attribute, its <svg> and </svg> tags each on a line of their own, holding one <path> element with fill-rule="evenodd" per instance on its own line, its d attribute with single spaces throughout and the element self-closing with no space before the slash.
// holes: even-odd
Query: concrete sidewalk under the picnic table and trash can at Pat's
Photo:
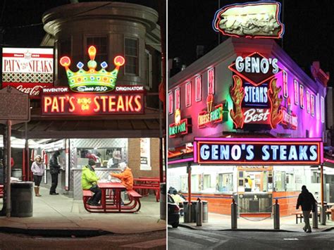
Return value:
<svg viewBox="0 0 334 250">
<path fill-rule="evenodd" d="M 0 227 L 36 230 L 104 230 L 132 234 L 166 230 L 166 220 L 160 220 L 160 203 L 151 195 L 141 199 L 137 213 L 89 213 L 82 201 L 63 195 L 49 195 L 41 188 L 41 197 L 34 196 L 33 216 L 30 218 L 0 217 Z M 3 200 L 0 199 L 0 207 Z"/>
</svg>

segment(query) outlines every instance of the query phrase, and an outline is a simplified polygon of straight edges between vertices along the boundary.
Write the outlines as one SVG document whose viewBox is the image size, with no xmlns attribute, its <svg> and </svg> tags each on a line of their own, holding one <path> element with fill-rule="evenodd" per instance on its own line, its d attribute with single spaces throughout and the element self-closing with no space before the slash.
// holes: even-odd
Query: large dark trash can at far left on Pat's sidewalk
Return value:
<svg viewBox="0 0 334 250">
<path fill-rule="evenodd" d="M 32 217 L 34 182 L 11 183 L 11 216 Z"/>
</svg>

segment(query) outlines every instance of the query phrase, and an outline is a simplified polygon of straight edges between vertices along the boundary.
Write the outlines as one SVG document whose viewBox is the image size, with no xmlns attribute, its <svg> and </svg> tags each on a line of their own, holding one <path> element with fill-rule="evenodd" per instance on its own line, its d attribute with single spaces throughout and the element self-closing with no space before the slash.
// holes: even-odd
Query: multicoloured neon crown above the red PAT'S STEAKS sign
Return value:
<svg viewBox="0 0 334 250">
<path fill-rule="evenodd" d="M 70 66 L 70 58 L 63 56 L 60 60 L 61 65 L 66 69 L 66 75 L 68 77 L 68 85 L 74 92 L 109 92 L 115 89 L 118 70 L 120 66 L 124 65 L 125 59 L 123 56 L 116 56 L 113 59 L 113 63 L 116 68 L 109 72 L 106 70 L 108 64 L 104 61 L 101 63 L 101 70 L 97 71 L 97 62 L 94 58 L 97 54 L 97 49 L 94 46 L 89 46 L 88 54 L 90 61 L 87 65 L 89 70 L 83 69 L 84 64 L 79 62 L 77 64 L 78 71 L 73 72 L 68 68 Z"/>
</svg>

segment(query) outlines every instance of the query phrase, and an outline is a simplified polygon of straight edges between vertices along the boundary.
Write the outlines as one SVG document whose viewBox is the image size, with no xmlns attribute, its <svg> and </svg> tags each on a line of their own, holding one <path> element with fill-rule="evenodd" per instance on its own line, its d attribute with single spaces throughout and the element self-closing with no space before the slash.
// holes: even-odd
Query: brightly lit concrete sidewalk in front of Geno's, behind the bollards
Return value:
<svg viewBox="0 0 334 250">
<path fill-rule="evenodd" d="M 197 227 L 196 223 L 183 223 L 183 218 L 180 218 L 180 227 L 187 227 L 196 230 L 231 230 L 231 218 L 230 215 L 221 215 L 217 213 L 209 213 L 209 222 L 202 223 L 202 227 Z M 310 219 L 312 225 L 312 219 Z M 302 227 L 304 226 L 304 220 L 296 224 L 295 215 L 285 216 L 280 218 L 280 230 L 290 232 L 304 232 Z M 267 231 L 273 229 L 272 218 L 238 218 L 237 219 L 238 230 L 256 230 L 256 231 Z M 326 220 L 326 225 L 318 223 L 318 229 L 312 229 L 314 232 L 323 232 L 325 230 L 333 230 L 334 221 Z"/>
</svg>

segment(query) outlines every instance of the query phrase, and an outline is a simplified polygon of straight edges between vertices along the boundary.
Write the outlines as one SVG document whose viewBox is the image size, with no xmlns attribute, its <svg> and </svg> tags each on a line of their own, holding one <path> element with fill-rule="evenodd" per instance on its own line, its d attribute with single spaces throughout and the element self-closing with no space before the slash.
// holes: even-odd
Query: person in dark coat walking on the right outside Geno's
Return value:
<svg viewBox="0 0 334 250">
<path fill-rule="evenodd" d="M 299 194 L 296 209 L 299 209 L 299 206 L 302 206 L 303 217 L 304 217 L 304 227 L 305 232 L 312 232 L 311 226 L 309 225 L 309 215 L 312 212 L 316 211 L 316 199 L 314 199 L 313 194 L 307 190 L 306 186 L 302 186 L 302 193 Z"/>
</svg>

